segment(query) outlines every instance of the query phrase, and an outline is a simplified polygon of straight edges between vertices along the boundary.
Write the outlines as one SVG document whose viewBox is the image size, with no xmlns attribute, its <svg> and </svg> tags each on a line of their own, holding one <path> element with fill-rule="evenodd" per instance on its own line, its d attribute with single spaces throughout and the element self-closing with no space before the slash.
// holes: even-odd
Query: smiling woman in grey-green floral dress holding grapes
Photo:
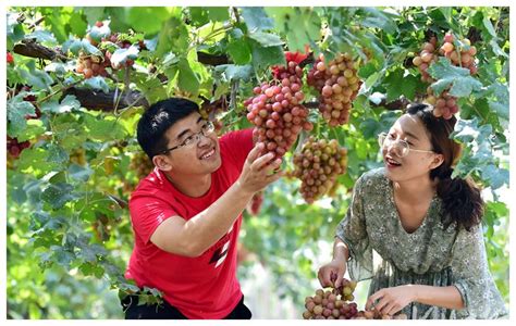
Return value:
<svg viewBox="0 0 516 326">
<path fill-rule="evenodd" d="M 333 260 L 319 269 L 319 280 L 339 287 L 346 266 L 352 279 L 372 278 L 366 309 L 383 314 L 504 316 L 488 268 L 480 190 L 451 177 L 460 154 L 450 139 L 456 118 L 435 117 L 431 110 L 411 105 L 379 136 L 384 167 L 357 180 Z M 374 267 L 373 251 L 380 258 Z"/>
</svg>

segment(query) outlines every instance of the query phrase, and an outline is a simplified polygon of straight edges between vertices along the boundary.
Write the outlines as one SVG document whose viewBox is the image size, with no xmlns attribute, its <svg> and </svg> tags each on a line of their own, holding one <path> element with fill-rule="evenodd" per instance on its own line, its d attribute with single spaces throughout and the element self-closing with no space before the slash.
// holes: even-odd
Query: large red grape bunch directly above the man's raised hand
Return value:
<svg viewBox="0 0 516 326">
<path fill-rule="evenodd" d="M 247 120 L 255 125 L 254 136 L 274 158 L 282 158 L 303 129 L 314 128 L 307 120 L 308 109 L 302 104 L 303 70 L 294 61 L 280 70 L 280 79 L 255 87 L 256 96 L 244 102 Z"/>
</svg>

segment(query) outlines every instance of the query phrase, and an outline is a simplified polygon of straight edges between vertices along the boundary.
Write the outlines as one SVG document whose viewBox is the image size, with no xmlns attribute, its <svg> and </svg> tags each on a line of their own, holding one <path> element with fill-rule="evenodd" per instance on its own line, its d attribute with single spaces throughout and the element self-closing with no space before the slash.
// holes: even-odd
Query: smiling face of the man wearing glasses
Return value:
<svg viewBox="0 0 516 326">
<path fill-rule="evenodd" d="M 167 130 L 167 148 L 177 147 L 162 154 L 172 166 L 172 175 L 211 174 L 220 167 L 219 138 L 207 126 L 207 121 L 194 112 Z"/>
</svg>

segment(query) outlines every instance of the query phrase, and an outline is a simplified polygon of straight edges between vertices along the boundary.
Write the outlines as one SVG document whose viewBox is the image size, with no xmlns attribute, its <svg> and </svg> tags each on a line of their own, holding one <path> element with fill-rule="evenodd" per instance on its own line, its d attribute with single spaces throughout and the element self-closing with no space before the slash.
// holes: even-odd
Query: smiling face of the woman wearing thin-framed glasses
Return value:
<svg viewBox="0 0 516 326">
<path fill-rule="evenodd" d="M 429 135 L 415 115 L 402 115 L 389 129 L 382 147 L 386 176 L 393 181 L 430 177 L 430 170 L 442 163 L 432 152 Z"/>
</svg>

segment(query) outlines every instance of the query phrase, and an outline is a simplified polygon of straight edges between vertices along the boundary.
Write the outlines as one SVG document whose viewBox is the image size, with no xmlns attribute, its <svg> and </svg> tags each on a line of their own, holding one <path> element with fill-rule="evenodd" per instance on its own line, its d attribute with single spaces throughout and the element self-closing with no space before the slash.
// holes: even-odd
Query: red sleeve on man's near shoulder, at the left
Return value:
<svg viewBox="0 0 516 326">
<path fill-rule="evenodd" d="M 177 213 L 165 201 L 145 195 L 136 195 L 130 201 L 131 222 L 135 235 L 148 244 L 158 226 Z"/>
</svg>

